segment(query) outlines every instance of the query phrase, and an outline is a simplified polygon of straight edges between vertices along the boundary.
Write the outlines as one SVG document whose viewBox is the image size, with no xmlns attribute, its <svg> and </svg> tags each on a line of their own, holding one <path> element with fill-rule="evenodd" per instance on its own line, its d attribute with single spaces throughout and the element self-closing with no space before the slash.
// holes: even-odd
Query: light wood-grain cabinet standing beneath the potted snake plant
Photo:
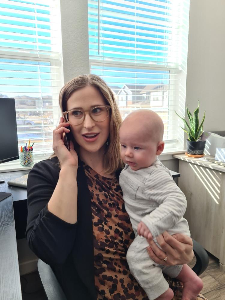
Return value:
<svg viewBox="0 0 225 300">
<path fill-rule="evenodd" d="M 220 260 L 225 271 L 225 167 L 204 158 L 173 155 L 179 159 L 178 186 L 187 198 L 184 217 L 191 237 Z"/>
</svg>

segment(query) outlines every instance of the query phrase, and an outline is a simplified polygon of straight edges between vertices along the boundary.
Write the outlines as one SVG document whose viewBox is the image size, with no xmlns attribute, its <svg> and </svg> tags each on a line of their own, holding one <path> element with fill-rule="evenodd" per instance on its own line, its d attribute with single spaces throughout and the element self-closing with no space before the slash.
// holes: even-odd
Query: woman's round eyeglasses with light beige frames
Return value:
<svg viewBox="0 0 225 300">
<path fill-rule="evenodd" d="M 66 121 L 71 125 L 79 125 L 85 119 L 85 113 L 88 113 L 95 122 L 103 122 L 109 116 L 110 105 L 96 106 L 89 110 L 67 110 L 63 112 Z"/>
</svg>

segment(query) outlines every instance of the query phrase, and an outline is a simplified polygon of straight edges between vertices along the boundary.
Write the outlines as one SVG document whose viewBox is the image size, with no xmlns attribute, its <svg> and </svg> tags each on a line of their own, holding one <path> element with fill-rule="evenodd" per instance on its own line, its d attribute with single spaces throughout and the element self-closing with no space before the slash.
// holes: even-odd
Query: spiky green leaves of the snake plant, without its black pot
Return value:
<svg viewBox="0 0 225 300">
<path fill-rule="evenodd" d="M 175 112 L 175 113 L 177 114 L 177 116 L 179 116 L 177 112 Z M 198 101 L 198 107 L 193 112 L 193 116 L 187 108 L 187 116 L 188 116 L 190 124 L 188 124 L 184 118 L 179 116 L 179 118 L 181 118 L 184 121 L 184 127 L 186 126 L 187 130 L 185 130 L 185 128 L 182 128 L 181 126 L 180 127 L 183 129 L 184 132 L 187 133 L 189 141 L 197 141 L 199 139 L 199 137 L 202 135 L 202 125 L 205 120 L 205 112 L 204 112 L 202 122 L 200 123 L 200 125 L 199 125 L 198 114 L 199 114 L 199 101 Z"/>
</svg>

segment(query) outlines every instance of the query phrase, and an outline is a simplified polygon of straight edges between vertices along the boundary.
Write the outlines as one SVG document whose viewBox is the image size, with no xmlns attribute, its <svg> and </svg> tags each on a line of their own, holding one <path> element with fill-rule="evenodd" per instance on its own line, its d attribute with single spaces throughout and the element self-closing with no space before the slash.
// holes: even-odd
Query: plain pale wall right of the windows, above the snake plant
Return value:
<svg viewBox="0 0 225 300">
<path fill-rule="evenodd" d="M 200 101 L 204 130 L 225 130 L 225 1 L 190 0 L 186 104 Z M 186 139 L 186 135 L 185 135 Z"/>
</svg>

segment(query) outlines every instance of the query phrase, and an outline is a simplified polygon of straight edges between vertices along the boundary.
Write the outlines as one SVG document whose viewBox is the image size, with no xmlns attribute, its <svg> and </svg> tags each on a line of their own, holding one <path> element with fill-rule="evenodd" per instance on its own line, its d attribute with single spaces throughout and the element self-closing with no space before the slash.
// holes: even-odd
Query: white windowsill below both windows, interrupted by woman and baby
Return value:
<svg viewBox="0 0 225 300">
<path fill-rule="evenodd" d="M 176 159 L 173 157 L 173 155 L 175 154 L 183 154 L 185 153 L 186 150 L 180 150 L 180 151 L 173 151 L 173 152 L 165 152 L 162 153 L 159 156 L 160 161 L 168 161 L 171 159 Z M 46 154 L 37 154 L 34 155 L 34 163 L 38 163 L 39 161 L 43 161 L 45 159 L 48 159 L 49 156 L 52 154 L 51 153 L 46 153 Z M 32 167 L 21 167 L 19 164 L 19 159 L 15 160 L 15 161 L 9 161 L 7 163 L 3 163 L 0 164 L 0 173 L 4 173 L 4 172 L 13 172 L 13 171 L 21 171 L 21 170 L 31 170 Z"/>
</svg>

